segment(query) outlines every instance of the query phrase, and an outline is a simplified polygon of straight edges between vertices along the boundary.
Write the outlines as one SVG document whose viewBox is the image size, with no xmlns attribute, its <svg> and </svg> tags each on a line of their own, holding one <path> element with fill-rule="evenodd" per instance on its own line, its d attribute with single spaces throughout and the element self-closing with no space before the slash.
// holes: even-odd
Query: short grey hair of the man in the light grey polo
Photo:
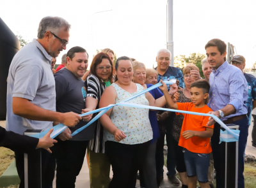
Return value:
<svg viewBox="0 0 256 188">
<path fill-rule="evenodd" d="M 44 38 L 45 31 L 51 31 L 58 35 L 60 29 L 64 28 L 64 31 L 69 31 L 70 24 L 66 20 L 60 17 L 44 17 L 39 23 L 37 38 Z"/>
</svg>

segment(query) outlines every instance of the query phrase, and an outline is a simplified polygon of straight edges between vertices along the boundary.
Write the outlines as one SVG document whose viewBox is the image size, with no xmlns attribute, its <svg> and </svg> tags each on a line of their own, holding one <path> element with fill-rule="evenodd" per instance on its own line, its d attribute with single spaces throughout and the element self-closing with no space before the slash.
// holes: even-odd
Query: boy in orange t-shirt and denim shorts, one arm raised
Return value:
<svg viewBox="0 0 256 188">
<path fill-rule="evenodd" d="M 209 83 L 205 80 L 198 80 L 191 83 L 190 87 L 191 103 L 173 102 L 165 83 L 163 83 L 163 86 L 159 88 L 163 90 L 170 108 L 198 113 L 208 113 L 212 111 L 211 108 L 205 105 L 205 99 L 208 98 L 210 89 Z M 177 85 L 173 84 L 172 87 L 170 87 L 170 90 L 170 93 L 175 94 L 178 90 Z M 210 153 L 212 151 L 210 138 L 213 134 L 214 126 L 206 126 L 209 121 L 209 117 L 207 116 L 191 115 L 188 113 L 176 114 L 184 115 L 179 146 L 184 148 L 184 159 L 188 173 L 188 187 L 196 187 L 196 180 L 198 180 L 200 187 L 210 188 L 207 174 L 210 162 Z"/>
</svg>

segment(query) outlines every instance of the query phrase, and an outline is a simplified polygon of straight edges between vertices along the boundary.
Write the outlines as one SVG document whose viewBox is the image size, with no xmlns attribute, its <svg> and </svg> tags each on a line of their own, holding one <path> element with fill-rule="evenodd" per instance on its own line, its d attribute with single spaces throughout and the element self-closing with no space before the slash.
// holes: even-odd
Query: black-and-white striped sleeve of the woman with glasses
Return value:
<svg viewBox="0 0 256 188">
<path fill-rule="evenodd" d="M 99 101 L 99 80 L 95 78 L 93 75 L 89 75 L 84 82 L 84 86 L 86 87 L 87 90 L 87 97 L 92 97 L 97 99 Z"/>
</svg>

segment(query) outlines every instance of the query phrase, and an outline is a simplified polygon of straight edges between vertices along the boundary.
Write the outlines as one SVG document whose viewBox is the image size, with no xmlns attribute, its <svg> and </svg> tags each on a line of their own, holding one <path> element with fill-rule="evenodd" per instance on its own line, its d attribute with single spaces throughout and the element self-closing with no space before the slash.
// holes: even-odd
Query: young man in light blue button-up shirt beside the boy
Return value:
<svg viewBox="0 0 256 188">
<path fill-rule="evenodd" d="M 210 40 L 205 45 L 206 55 L 212 67 L 209 78 L 211 89 L 209 92 L 208 106 L 214 110 L 212 113 L 219 117 L 224 124 L 236 124 L 239 126 L 239 149 L 238 149 L 238 187 L 244 188 L 244 150 L 248 136 L 248 117 L 246 101 L 248 98 L 247 82 L 239 68 L 228 64 L 226 61 L 227 45 L 219 40 Z M 215 123 L 215 124 L 214 124 Z M 221 173 L 220 161 L 220 124 L 211 117 L 207 126 L 214 124 L 212 135 L 212 154 L 214 157 L 214 168 L 216 170 L 216 187 L 224 187 L 225 180 Z"/>
</svg>

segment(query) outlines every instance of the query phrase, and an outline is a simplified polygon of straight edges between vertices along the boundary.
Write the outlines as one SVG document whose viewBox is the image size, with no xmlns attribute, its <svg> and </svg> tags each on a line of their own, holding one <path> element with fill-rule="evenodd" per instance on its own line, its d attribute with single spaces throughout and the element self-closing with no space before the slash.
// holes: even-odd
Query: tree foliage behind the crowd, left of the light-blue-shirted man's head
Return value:
<svg viewBox="0 0 256 188">
<path fill-rule="evenodd" d="M 193 63 L 195 66 L 198 67 L 200 76 L 204 78 L 204 73 L 202 71 L 202 59 L 204 59 L 205 55 L 200 53 L 192 53 L 189 55 L 189 57 L 186 57 L 186 55 L 179 55 L 174 57 L 174 64 L 175 66 L 181 68 L 183 70 L 184 66 L 188 63 Z"/>
</svg>

